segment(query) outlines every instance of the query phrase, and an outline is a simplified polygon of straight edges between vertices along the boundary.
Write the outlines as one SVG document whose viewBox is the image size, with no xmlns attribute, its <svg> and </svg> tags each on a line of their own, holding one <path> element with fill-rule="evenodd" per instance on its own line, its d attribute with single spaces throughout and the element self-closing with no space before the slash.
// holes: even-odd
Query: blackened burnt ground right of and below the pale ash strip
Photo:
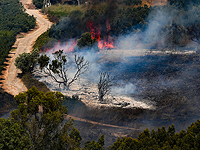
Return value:
<svg viewBox="0 0 200 150">
<path fill-rule="evenodd" d="M 176 131 L 186 129 L 200 118 L 200 55 L 146 55 L 129 57 L 125 63 L 107 63 L 116 81 L 136 85 L 131 96 L 156 103 L 156 110 L 141 108 L 87 108 L 81 101 L 67 101 L 69 114 L 88 120 L 140 129 L 174 124 Z M 130 89 L 132 90 L 132 89 Z M 75 121 L 75 127 L 87 140 L 105 134 L 105 147 L 117 137 L 137 137 L 139 131 L 113 129 Z"/>
</svg>

